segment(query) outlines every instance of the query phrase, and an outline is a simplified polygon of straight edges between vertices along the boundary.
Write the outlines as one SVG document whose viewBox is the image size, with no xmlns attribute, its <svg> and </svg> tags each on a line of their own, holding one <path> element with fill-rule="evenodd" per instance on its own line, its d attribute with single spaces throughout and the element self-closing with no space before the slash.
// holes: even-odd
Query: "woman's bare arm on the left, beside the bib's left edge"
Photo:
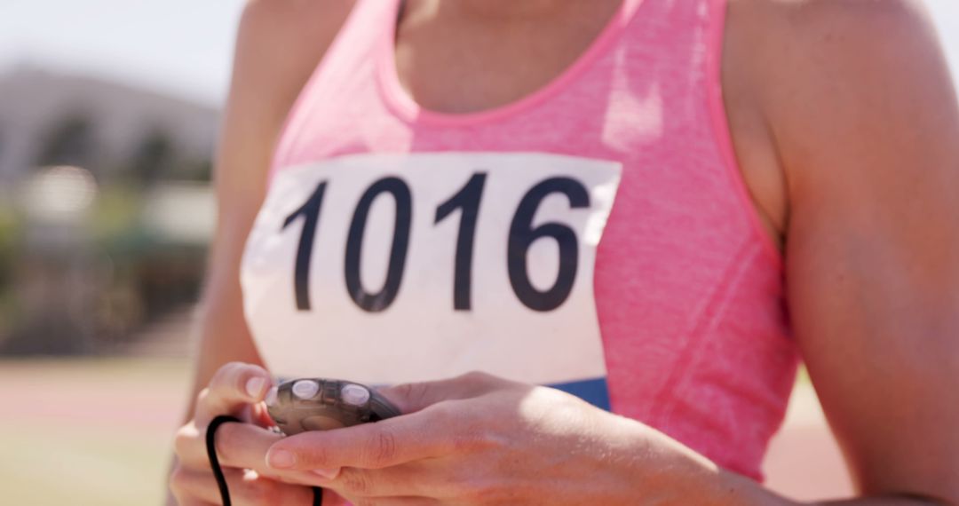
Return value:
<svg viewBox="0 0 959 506">
<path fill-rule="evenodd" d="M 194 418 L 200 390 L 224 364 L 263 363 L 243 316 L 239 273 L 246 236 L 266 195 L 269 162 L 287 113 L 352 7 L 352 0 L 246 4 L 214 168 L 219 218 L 185 422 Z"/>
</svg>

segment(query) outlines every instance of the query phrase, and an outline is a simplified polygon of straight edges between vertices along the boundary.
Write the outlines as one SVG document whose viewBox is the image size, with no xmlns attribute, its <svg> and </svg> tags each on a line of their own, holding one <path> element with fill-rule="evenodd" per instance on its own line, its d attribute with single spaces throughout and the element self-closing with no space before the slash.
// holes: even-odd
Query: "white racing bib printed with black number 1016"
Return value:
<svg viewBox="0 0 959 506">
<path fill-rule="evenodd" d="M 277 173 L 241 276 L 261 356 L 368 384 L 484 371 L 608 409 L 593 273 L 620 170 L 442 152 Z"/>
</svg>

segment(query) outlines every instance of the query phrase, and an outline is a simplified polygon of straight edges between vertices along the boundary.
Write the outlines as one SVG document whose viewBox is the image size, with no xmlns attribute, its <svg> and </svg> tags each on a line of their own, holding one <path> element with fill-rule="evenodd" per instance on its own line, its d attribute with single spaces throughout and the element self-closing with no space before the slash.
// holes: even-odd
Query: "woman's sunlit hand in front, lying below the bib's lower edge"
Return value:
<svg viewBox="0 0 959 506">
<path fill-rule="evenodd" d="M 358 505 L 636 504 L 667 473 L 712 467 L 551 388 L 473 373 L 381 393 L 407 414 L 285 438 L 269 465 L 296 479 L 312 471 L 307 484 Z"/>
</svg>

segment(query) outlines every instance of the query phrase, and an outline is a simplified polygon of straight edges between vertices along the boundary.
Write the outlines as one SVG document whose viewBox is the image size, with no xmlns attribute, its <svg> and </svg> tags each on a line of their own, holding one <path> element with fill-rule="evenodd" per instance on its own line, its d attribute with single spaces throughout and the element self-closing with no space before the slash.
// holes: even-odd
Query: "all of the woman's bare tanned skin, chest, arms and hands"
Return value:
<svg viewBox="0 0 959 506">
<path fill-rule="evenodd" d="M 411 1 L 397 70 L 430 109 L 506 104 L 565 68 L 617 4 Z M 310 504 L 305 485 L 361 505 L 791 504 L 651 427 L 479 374 L 386 389 L 407 415 L 376 425 L 283 440 L 262 427 L 269 373 L 243 321 L 239 259 L 279 127 L 350 7 L 246 8 L 175 500 L 218 503 L 202 435 L 235 413 L 250 423 L 217 441 L 235 504 Z M 543 58 L 520 64 L 509 48 L 529 43 Z M 475 86 L 442 85 L 453 80 Z M 844 503 L 959 503 L 959 106 L 924 12 L 732 0 L 722 80 L 740 169 L 784 251 L 795 339 L 854 475 L 859 497 Z"/>
</svg>

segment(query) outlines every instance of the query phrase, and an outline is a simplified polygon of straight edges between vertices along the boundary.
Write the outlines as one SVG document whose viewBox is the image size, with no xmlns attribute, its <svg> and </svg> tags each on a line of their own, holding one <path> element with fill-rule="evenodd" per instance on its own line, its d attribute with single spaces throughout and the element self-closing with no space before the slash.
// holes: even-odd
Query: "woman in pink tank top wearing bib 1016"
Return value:
<svg viewBox="0 0 959 506">
<path fill-rule="evenodd" d="M 250 2 L 176 500 L 219 503 L 203 432 L 243 414 L 236 504 L 788 503 L 759 466 L 802 357 L 850 504 L 959 501 L 929 26 L 907 0 Z M 280 441 L 270 374 L 400 384 L 405 415 Z"/>
</svg>

